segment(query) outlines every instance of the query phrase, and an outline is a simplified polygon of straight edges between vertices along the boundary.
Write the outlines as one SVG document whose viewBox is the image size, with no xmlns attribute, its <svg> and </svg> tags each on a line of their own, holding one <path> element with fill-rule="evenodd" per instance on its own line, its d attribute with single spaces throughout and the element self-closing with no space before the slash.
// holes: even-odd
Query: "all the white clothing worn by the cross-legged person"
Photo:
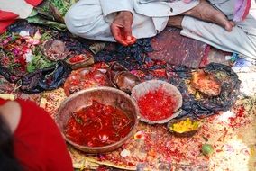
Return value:
<svg viewBox="0 0 256 171">
<path fill-rule="evenodd" d="M 70 32 L 80 37 L 114 41 L 110 23 L 113 22 L 116 12 L 130 11 L 133 13 L 133 35 L 138 39 L 148 38 L 155 36 L 166 27 L 169 16 L 184 13 L 198 4 L 198 0 L 190 4 L 178 0 L 174 0 L 173 3 L 166 1 L 168 0 L 80 0 L 69 9 L 65 23 Z M 229 19 L 233 19 L 235 0 L 209 1 Z M 217 49 L 237 52 L 256 59 L 255 19 L 255 0 L 251 0 L 250 14 L 242 23 L 236 23 L 231 32 L 214 23 L 185 16 L 181 34 L 204 41 Z"/>
</svg>

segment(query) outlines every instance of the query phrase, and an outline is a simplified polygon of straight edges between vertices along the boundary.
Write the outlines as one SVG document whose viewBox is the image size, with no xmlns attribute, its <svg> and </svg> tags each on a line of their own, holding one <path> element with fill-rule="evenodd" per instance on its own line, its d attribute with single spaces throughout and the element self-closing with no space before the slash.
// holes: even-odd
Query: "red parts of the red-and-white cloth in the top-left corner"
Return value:
<svg viewBox="0 0 256 171">
<path fill-rule="evenodd" d="M 42 0 L 25 0 L 28 4 L 32 6 L 37 6 Z M 0 34 L 6 31 L 6 28 L 15 22 L 19 15 L 12 12 L 5 12 L 0 10 Z"/>
</svg>

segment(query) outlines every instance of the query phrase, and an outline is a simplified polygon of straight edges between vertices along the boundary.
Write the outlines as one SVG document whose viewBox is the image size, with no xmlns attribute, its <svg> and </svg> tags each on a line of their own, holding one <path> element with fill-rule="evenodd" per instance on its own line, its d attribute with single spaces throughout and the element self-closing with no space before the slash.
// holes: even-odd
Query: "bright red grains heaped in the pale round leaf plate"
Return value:
<svg viewBox="0 0 256 171">
<path fill-rule="evenodd" d="M 160 121 L 173 114 L 176 102 L 162 88 L 142 96 L 138 100 L 141 115 L 150 121 Z"/>
</svg>

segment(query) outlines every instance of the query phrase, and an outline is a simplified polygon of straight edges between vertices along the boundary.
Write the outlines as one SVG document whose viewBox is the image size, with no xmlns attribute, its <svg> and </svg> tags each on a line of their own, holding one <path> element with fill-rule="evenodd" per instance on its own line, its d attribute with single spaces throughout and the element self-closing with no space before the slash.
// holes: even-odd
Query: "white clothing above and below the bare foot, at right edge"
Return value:
<svg viewBox="0 0 256 171">
<path fill-rule="evenodd" d="M 211 3 L 232 20 L 234 2 L 234 0 L 225 0 L 218 3 L 212 0 Z M 236 23 L 231 32 L 225 31 L 224 28 L 214 23 L 206 23 L 189 16 L 184 17 L 182 28 L 181 34 L 184 36 L 206 42 L 217 49 L 236 52 L 256 59 L 256 4 L 254 0 L 251 0 L 249 15 L 244 21 Z"/>
</svg>

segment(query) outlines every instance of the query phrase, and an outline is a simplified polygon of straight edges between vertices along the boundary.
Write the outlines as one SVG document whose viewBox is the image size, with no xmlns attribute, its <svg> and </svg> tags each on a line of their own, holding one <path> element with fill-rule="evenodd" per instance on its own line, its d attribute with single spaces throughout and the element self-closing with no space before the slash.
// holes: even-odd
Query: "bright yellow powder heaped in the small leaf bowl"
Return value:
<svg viewBox="0 0 256 171">
<path fill-rule="evenodd" d="M 191 121 L 189 118 L 185 121 L 178 121 L 169 127 L 170 130 L 173 130 L 178 133 L 183 133 L 187 131 L 197 130 L 200 126 L 199 121 Z"/>
</svg>

